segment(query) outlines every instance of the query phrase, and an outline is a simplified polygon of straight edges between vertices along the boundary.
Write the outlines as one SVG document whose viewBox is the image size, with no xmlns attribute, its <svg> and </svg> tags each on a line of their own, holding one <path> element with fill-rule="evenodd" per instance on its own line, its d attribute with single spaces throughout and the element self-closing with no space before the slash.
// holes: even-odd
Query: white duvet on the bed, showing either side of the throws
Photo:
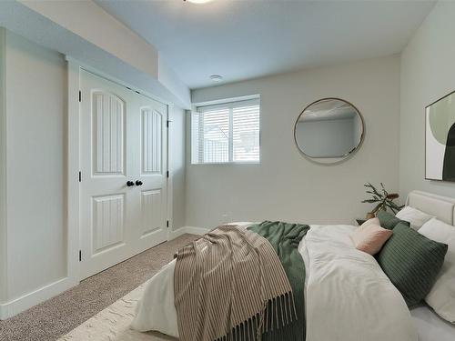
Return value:
<svg viewBox="0 0 455 341">
<path fill-rule="evenodd" d="M 311 226 L 298 246 L 307 268 L 307 341 L 416 341 L 399 291 L 372 256 L 352 245 L 354 228 Z M 178 337 L 175 266 L 174 260 L 148 281 L 132 328 Z"/>
</svg>

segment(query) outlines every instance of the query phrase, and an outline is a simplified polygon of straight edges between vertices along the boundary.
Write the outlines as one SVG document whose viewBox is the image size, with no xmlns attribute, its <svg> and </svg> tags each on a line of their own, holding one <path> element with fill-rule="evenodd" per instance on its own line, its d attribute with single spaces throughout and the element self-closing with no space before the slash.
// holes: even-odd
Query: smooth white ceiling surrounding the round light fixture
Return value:
<svg viewBox="0 0 455 341">
<path fill-rule="evenodd" d="M 399 53 L 434 1 L 96 0 L 190 87 Z"/>
</svg>

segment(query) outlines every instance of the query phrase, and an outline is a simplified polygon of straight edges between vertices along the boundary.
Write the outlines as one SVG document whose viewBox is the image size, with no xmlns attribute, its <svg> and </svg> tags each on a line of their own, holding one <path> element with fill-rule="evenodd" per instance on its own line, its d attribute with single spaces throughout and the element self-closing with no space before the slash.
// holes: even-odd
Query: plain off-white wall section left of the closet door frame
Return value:
<svg viewBox="0 0 455 341">
<path fill-rule="evenodd" d="M 63 55 L 6 33 L 8 301 L 66 276 Z"/>
</svg>

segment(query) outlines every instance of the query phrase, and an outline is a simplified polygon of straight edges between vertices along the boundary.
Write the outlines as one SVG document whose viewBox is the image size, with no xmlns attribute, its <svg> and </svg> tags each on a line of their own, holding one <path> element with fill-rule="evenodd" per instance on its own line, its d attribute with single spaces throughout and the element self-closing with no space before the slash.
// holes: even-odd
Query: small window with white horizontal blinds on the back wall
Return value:
<svg viewBox="0 0 455 341">
<path fill-rule="evenodd" d="M 191 115 L 191 163 L 259 162 L 259 99 L 197 106 Z"/>
</svg>

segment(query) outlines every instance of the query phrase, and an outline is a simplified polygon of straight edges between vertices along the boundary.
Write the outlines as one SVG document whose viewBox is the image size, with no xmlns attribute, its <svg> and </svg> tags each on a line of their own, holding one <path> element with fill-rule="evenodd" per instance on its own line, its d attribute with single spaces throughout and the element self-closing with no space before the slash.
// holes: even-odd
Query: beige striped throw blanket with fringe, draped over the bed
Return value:
<svg viewBox="0 0 455 341">
<path fill-rule="evenodd" d="M 237 226 L 219 226 L 178 251 L 174 291 L 181 341 L 253 341 L 296 318 L 274 248 Z"/>
</svg>

